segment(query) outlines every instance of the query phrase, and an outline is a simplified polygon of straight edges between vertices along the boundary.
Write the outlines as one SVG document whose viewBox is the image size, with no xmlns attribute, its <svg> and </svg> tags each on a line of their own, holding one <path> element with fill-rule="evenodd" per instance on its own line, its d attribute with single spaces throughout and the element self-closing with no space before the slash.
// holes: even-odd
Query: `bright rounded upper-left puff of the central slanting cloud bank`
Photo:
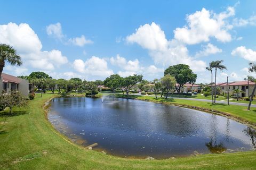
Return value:
<svg viewBox="0 0 256 170">
<path fill-rule="evenodd" d="M 128 43 L 137 43 L 141 47 L 150 50 L 165 50 L 167 40 L 164 31 L 155 22 L 140 25 L 135 33 L 126 37 Z"/>
</svg>

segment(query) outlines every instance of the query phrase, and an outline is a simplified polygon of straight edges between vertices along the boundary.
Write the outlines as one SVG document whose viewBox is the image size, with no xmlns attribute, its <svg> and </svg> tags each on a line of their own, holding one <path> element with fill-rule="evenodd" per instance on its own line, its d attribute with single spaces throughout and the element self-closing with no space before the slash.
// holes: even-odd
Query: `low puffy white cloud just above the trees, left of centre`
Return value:
<svg viewBox="0 0 256 170">
<path fill-rule="evenodd" d="M 83 60 L 75 60 L 73 62 L 74 69 L 86 75 L 108 77 L 113 71 L 108 69 L 108 64 L 103 58 L 92 56 L 85 62 Z"/>
</svg>

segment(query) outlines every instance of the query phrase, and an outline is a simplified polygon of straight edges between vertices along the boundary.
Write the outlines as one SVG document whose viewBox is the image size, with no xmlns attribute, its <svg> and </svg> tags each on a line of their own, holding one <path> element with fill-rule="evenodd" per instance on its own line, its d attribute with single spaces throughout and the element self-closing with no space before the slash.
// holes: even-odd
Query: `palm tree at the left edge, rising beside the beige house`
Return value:
<svg viewBox="0 0 256 170">
<path fill-rule="evenodd" d="M 5 62 L 18 66 L 22 64 L 21 57 L 17 54 L 16 50 L 12 46 L 0 44 L 0 78 L 5 66 Z"/>
</svg>

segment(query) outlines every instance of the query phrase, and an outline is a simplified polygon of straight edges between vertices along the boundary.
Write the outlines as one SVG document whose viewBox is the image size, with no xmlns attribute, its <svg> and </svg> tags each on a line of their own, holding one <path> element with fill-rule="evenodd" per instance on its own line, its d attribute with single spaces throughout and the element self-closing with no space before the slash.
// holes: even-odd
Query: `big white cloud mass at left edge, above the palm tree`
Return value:
<svg viewBox="0 0 256 170">
<path fill-rule="evenodd" d="M 0 43 L 10 44 L 20 54 L 25 66 L 35 69 L 54 70 L 68 63 L 59 50 L 42 51 L 42 43 L 33 29 L 26 23 L 0 25 Z"/>
</svg>

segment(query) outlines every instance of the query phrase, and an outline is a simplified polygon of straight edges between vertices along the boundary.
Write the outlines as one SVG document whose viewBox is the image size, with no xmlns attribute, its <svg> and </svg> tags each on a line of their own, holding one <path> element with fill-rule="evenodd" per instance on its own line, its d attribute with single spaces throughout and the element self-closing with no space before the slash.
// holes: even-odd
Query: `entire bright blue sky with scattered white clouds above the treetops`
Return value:
<svg viewBox="0 0 256 170">
<path fill-rule="evenodd" d="M 113 73 L 153 80 L 185 63 L 197 82 L 205 66 L 223 60 L 218 81 L 242 80 L 256 62 L 255 1 L 5 1 L 0 43 L 23 60 L 5 73 L 44 71 L 53 78 L 103 80 Z"/>
</svg>

